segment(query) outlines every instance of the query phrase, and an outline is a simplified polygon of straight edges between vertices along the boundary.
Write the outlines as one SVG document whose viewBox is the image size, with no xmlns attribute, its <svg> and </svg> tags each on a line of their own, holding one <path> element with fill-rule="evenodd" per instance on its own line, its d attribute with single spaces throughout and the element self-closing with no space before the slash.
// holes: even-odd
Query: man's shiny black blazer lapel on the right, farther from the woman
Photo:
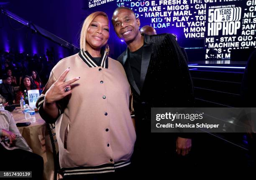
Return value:
<svg viewBox="0 0 256 180">
<path fill-rule="evenodd" d="M 141 90 L 144 85 L 145 77 L 148 71 L 148 65 L 151 57 L 151 40 L 148 35 L 144 35 L 144 47 L 142 52 L 142 60 L 141 60 Z"/>
</svg>

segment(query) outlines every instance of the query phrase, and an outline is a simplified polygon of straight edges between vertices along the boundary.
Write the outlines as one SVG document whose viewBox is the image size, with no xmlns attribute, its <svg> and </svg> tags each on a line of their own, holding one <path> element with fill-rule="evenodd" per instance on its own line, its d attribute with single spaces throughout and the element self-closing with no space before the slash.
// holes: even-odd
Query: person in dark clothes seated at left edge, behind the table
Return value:
<svg viewBox="0 0 256 180">
<path fill-rule="evenodd" d="M 12 80 L 8 75 L 3 75 L 3 83 L 0 84 L 0 95 L 8 102 L 8 105 L 15 104 L 15 93 L 11 86 Z"/>
</svg>

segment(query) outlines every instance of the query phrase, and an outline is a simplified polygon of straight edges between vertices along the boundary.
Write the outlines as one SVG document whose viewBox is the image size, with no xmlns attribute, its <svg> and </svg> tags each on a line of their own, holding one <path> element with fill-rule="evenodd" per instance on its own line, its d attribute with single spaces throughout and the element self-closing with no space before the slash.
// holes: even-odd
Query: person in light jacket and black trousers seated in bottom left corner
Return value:
<svg viewBox="0 0 256 180">
<path fill-rule="evenodd" d="M 32 153 L 26 140 L 21 136 L 13 116 L 6 110 L 0 110 L 0 170 L 1 171 L 32 171 L 29 180 L 41 180 L 44 160 L 40 155 Z"/>
</svg>

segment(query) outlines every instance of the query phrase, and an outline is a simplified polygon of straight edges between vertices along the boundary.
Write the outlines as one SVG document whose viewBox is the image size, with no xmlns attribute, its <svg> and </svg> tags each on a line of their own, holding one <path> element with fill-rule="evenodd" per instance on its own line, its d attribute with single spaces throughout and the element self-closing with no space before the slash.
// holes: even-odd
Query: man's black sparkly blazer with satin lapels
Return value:
<svg viewBox="0 0 256 180">
<path fill-rule="evenodd" d="M 173 35 L 144 34 L 143 46 L 141 90 L 133 78 L 128 48 L 118 57 L 133 92 L 137 139 L 150 133 L 151 107 L 192 107 L 194 102 L 188 65 Z"/>
</svg>

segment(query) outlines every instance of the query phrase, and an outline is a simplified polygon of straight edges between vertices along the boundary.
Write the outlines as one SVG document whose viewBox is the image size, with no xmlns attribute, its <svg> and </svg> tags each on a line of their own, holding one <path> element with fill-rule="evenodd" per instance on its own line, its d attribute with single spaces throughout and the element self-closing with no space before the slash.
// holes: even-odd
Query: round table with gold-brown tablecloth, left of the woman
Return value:
<svg viewBox="0 0 256 180">
<path fill-rule="evenodd" d="M 25 120 L 25 114 L 21 113 L 19 107 L 13 110 L 12 115 L 16 123 L 29 122 L 29 120 Z M 26 127 L 18 127 L 18 129 L 33 153 L 41 155 L 44 159 L 44 180 L 53 180 L 54 158 L 46 122 L 39 113 L 36 113 L 36 122 L 31 122 L 31 125 Z"/>
</svg>

